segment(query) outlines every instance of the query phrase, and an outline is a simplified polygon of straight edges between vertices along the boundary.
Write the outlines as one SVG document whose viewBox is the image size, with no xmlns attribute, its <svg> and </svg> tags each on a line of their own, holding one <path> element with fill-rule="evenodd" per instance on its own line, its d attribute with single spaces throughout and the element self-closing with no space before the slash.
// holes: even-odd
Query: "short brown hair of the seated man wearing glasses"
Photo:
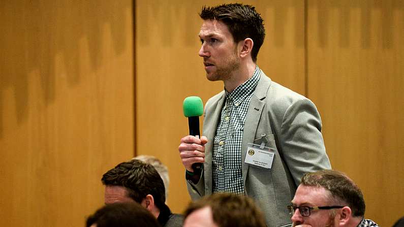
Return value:
<svg viewBox="0 0 404 227">
<path fill-rule="evenodd" d="M 305 186 L 324 187 L 331 193 L 331 200 L 346 203 L 352 210 L 352 216 L 363 217 L 365 214 L 365 201 L 358 185 L 344 173 L 333 170 L 321 170 L 306 173 L 300 184 Z M 339 205 L 339 204 L 332 204 Z"/>
</svg>

